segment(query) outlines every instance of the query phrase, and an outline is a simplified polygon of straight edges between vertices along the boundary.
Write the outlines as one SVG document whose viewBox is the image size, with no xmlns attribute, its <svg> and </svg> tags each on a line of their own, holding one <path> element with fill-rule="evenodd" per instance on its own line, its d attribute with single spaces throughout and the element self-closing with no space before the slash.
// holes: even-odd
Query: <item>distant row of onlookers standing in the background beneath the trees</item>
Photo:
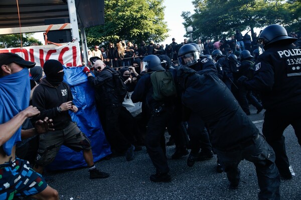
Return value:
<svg viewBox="0 0 301 200">
<path fill-rule="evenodd" d="M 248 50 L 251 53 L 258 53 L 258 43 L 257 43 L 257 33 L 254 32 L 252 35 L 249 34 L 250 31 L 246 32 L 244 35 L 240 30 L 236 29 L 235 34 L 231 35 L 230 38 L 220 38 L 217 41 L 212 41 L 211 39 L 198 39 L 197 44 L 200 47 L 200 52 L 202 54 L 211 54 L 212 51 L 219 49 L 225 55 L 230 55 L 235 51 L 241 52 L 242 50 Z M 290 32 L 289 36 L 297 38 L 293 42 L 295 46 L 301 46 L 301 35 L 295 32 Z M 109 42 L 108 47 L 102 46 L 99 50 L 99 46 L 95 45 L 94 49 L 88 50 L 88 59 L 91 57 L 99 57 L 105 62 L 106 65 L 116 67 L 129 66 L 137 57 L 143 57 L 149 54 L 155 55 L 167 55 L 174 62 L 178 60 L 178 51 L 184 44 L 190 43 L 186 38 L 181 43 L 177 43 L 175 38 L 172 38 L 172 43 L 170 44 L 155 44 L 154 41 L 141 41 L 140 44 L 133 44 L 131 41 L 125 42 L 124 40 L 118 41 L 116 44 Z M 97 53 L 96 53 L 97 52 Z M 93 58 L 92 58 L 93 59 Z"/>
</svg>

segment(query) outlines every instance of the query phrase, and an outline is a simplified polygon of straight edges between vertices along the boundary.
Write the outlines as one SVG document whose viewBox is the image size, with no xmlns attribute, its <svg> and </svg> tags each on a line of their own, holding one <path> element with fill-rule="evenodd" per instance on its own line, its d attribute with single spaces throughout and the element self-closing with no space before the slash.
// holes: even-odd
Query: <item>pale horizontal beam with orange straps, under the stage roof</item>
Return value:
<svg viewBox="0 0 301 200">
<path fill-rule="evenodd" d="M 59 30 L 62 24 L 53 24 L 50 30 Z M 37 25 L 37 26 L 26 26 L 21 27 L 21 32 L 43 32 L 46 31 L 46 29 L 49 27 L 49 25 Z M 63 29 L 70 29 L 70 23 L 68 23 Z M 0 34 L 15 34 L 20 33 L 20 27 L 14 27 L 14 28 L 0 28 Z"/>
</svg>

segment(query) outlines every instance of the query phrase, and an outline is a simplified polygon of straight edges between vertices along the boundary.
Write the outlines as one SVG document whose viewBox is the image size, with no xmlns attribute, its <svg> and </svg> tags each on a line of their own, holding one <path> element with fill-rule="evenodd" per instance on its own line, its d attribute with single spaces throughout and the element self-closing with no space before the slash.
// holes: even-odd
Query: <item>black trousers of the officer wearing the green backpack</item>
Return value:
<svg viewBox="0 0 301 200">
<path fill-rule="evenodd" d="M 165 107 L 159 115 L 152 114 L 147 123 L 145 146 L 157 173 L 167 173 L 170 170 L 166 157 L 164 133 L 172 110 L 171 107 Z"/>
</svg>

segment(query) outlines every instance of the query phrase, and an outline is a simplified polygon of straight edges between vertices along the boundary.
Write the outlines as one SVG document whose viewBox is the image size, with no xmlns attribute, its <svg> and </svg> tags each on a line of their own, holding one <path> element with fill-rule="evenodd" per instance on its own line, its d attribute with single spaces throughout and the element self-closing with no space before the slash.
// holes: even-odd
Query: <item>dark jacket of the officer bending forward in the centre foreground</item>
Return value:
<svg viewBox="0 0 301 200">
<path fill-rule="evenodd" d="M 181 67 L 177 74 L 182 102 L 209 126 L 213 147 L 230 149 L 252 138 L 258 129 L 244 113 L 227 86 L 212 70 L 196 72 Z"/>
</svg>

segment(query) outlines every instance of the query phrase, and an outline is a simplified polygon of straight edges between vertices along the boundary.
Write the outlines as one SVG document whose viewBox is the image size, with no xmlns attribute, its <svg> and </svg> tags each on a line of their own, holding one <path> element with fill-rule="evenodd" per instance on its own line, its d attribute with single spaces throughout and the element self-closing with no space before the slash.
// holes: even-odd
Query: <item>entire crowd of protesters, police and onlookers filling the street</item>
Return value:
<svg viewBox="0 0 301 200">
<path fill-rule="evenodd" d="M 95 89 L 112 155 L 131 161 L 145 145 L 156 169 L 150 181 L 170 182 L 167 129 L 175 142 L 172 159 L 189 154 L 187 165 L 193 167 L 217 154 L 216 170 L 227 173 L 232 189 L 246 159 L 256 167 L 258 198 L 280 199 L 280 177 L 292 178 L 283 136 L 289 124 L 301 145 L 301 49 L 278 24 L 264 28 L 256 44 L 255 36 L 248 42 L 246 35 L 236 30 L 227 41 L 185 39 L 180 45 L 173 38 L 165 49 L 153 41 L 140 47 L 120 41 L 89 51 L 91 65 L 83 72 Z M 0 199 L 59 199 L 43 169 L 62 144 L 83 151 L 91 179 L 109 177 L 95 167 L 90 140 L 71 119 L 69 111 L 78 108 L 62 63 L 49 59 L 42 69 L 15 53 L 0 53 L 0 66 Z M 171 74 L 173 95 L 155 95 L 157 71 Z M 141 113 L 133 116 L 122 104 L 125 98 L 142 102 Z M 262 133 L 248 117 L 249 104 L 257 113 L 265 109 Z"/>
</svg>

